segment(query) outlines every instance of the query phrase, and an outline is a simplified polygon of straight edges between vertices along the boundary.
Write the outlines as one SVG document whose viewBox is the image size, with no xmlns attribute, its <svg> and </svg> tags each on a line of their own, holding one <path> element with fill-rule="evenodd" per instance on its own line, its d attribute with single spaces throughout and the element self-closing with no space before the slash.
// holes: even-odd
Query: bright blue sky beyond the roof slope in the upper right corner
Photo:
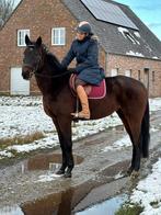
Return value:
<svg viewBox="0 0 161 215">
<path fill-rule="evenodd" d="M 92 0 L 91 0 L 92 1 Z M 161 41 L 161 0 L 115 0 L 127 4 Z M 20 0 L 15 0 L 19 3 Z"/>
</svg>

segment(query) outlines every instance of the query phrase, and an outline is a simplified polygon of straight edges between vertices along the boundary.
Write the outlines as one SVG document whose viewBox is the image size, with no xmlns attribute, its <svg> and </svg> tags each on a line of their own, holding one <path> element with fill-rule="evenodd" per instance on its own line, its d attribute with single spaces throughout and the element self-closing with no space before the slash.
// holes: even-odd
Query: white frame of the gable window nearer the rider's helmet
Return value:
<svg viewBox="0 0 161 215">
<path fill-rule="evenodd" d="M 64 34 L 61 35 L 61 31 Z M 55 41 L 55 31 L 58 31 L 57 43 Z M 64 43 L 61 43 L 61 38 Z M 53 46 L 65 46 L 66 45 L 66 27 L 53 27 L 51 29 L 51 45 Z"/>
</svg>

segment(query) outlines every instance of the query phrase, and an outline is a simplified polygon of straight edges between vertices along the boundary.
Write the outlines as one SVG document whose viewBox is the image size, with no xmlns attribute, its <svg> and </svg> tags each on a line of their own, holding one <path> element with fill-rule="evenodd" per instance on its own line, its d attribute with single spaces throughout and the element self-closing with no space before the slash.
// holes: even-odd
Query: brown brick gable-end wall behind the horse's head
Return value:
<svg viewBox="0 0 161 215">
<path fill-rule="evenodd" d="M 0 91 L 10 91 L 10 69 L 21 67 L 24 47 L 18 47 L 18 30 L 30 29 L 31 39 L 39 35 L 59 59 L 65 56 L 74 38 L 77 20 L 60 0 L 23 0 L 0 32 Z M 51 29 L 66 27 L 66 46 L 51 46 Z M 31 91 L 37 91 L 34 79 Z"/>
</svg>

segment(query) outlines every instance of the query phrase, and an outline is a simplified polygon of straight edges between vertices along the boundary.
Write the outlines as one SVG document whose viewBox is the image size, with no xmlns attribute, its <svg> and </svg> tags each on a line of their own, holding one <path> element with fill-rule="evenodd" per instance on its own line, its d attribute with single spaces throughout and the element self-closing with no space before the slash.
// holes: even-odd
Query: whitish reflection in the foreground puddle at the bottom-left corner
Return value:
<svg viewBox="0 0 161 215">
<path fill-rule="evenodd" d="M 23 212 L 18 205 L 5 206 L 0 208 L 0 215 L 23 215 Z"/>
</svg>

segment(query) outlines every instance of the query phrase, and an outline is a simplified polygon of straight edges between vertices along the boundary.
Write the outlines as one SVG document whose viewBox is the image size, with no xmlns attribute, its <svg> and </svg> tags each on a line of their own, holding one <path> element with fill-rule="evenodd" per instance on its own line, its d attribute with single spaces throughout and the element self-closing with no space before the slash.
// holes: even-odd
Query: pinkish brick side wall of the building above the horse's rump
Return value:
<svg viewBox="0 0 161 215">
<path fill-rule="evenodd" d="M 140 81 L 145 83 L 145 68 L 149 68 L 149 97 L 161 97 L 161 61 L 112 54 L 107 56 L 107 76 L 112 69 L 118 69 L 119 75 L 125 75 L 125 70 L 131 70 L 131 77 L 139 79 L 140 72 Z"/>
</svg>

